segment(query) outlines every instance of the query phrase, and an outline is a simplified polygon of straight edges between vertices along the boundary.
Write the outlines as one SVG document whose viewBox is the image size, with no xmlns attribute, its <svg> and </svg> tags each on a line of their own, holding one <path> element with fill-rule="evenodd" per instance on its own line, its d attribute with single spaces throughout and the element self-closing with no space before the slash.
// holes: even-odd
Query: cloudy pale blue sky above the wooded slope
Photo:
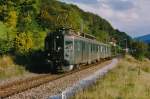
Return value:
<svg viewBox="0 0 150 99">
<path fill-rule="evenodd" d="M 150 34 L 150 0 L 60 0 L 98 14 L 131 37 Z"/>
</svg>

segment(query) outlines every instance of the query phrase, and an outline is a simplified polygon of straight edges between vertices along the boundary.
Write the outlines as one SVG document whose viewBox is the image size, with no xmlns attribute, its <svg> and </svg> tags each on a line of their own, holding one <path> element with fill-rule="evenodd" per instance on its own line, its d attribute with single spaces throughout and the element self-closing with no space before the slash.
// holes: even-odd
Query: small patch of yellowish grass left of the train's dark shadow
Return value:
<svg viewBox="0 0 150 99">
<path fill-rule="evenodd" d="M 0 57 L 0 79 L 10 78 L 26 73 L 22 66 L 14 63 L 11 56 Z"/>
</svg>

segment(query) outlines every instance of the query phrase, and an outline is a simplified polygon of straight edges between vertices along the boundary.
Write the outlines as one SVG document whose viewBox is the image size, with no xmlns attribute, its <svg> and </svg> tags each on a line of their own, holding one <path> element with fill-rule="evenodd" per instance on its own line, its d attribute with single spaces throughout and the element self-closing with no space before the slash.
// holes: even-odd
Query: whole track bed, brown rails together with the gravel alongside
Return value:
<svg viewBox="0 0 150 99">
<path fill-rule="evenodd" d="M 73 83 L 80 80 L 82 77 L 88 76 L 89 74 L 96 71 L 98 68 L 101 68 L 106 64 L 109 64 L 110 62 L 111 60 L 105 60 L 105 62 L 103 63 L 99 62 L 91 65 L 81 66 L 80 69 L 76 69 L 74 71 L 67 72 L 64 74 L 45 74 L 27 78 L 25 80 L 13 81 L 6 85 L 0 86 L 0 97 L 11 99 L 20 97 L 22 99 L 25 99 L 27 98 L 26 95 L 30 94 L 28 95 L 28 97 L 33 98 L 35 96 L 35 98 L 40 99 L 48 96 L 48 94 L 56 94 L 61 92 L 61 89 L 71 86 Z M 47 93 L 47 89 L 49 90 L 49 93 Z M 42 92 L 37 93 L 37 91 L 40 90 L 44 90 L 45 92 L 42 92 L 46 93 L 47 95 L 42 94 Z"/>
</svg>

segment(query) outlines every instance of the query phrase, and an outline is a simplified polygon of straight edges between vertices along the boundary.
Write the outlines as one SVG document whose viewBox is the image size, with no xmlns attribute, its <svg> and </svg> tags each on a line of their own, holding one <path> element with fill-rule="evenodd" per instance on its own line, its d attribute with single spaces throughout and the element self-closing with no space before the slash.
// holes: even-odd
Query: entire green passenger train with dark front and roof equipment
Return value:
<svg viewBox="0 0 150 99">
<path fill-rule="evenodd" d="M 47 35 L 45 50 L 47 63 L 56 71 L 69 71 L 80 64 L 91 64 L 111 57 L 109 44 L 100 43 L 91 35 L 64 28 Z"/>
</svg>

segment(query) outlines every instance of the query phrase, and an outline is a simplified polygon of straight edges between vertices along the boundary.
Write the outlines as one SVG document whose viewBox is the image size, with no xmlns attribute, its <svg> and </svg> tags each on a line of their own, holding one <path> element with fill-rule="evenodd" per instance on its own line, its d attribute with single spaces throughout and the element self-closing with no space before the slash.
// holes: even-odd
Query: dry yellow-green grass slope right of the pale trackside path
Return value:
<svg viewBox="0 0 150 99">
<path fill-rule="evenodd" d="M 150 60 L 122 59 L 94 86 L 73 99 L 150 99 Z"/>
</svg>

